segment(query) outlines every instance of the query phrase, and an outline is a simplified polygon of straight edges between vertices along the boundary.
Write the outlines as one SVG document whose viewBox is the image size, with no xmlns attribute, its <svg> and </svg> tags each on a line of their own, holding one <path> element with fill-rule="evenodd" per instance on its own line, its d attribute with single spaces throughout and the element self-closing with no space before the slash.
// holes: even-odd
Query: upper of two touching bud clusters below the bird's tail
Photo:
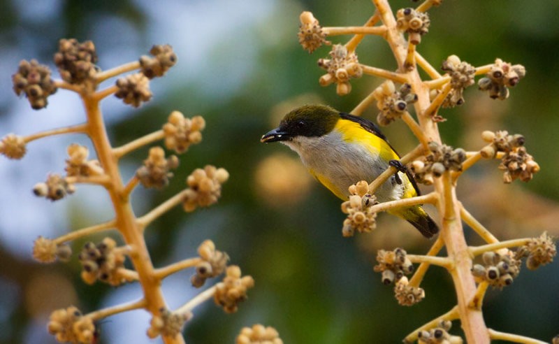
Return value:
<svg viewBox="0 0 559 344">
<path fill-rule="evenodd" d="M 373 269 L 375 272 L 382 272 L 382 282 L 390 285 L 392 282 L 398 282 L 404 275 L 414 272 L 414 265 L 409 258 L 406 257 L 405 250 L 395 248 L 393 251 L 379 250 L 377 252 L 377 261 Z"/>
</svg>

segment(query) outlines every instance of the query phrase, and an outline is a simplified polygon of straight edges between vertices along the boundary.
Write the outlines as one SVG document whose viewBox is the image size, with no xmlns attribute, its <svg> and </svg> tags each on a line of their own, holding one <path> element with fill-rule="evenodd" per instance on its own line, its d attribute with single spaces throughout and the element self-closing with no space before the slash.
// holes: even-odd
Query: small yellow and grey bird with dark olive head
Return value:
<svg viewBox="0 0 559 344">
<path fill-rule="evenodd" d="M 279 127 L 268 131 L 260 141 L 289 146 L 314 178 L 344 201 L 350 196 L 350 185 L 360 180 L 372 182 L 389 166 L 398 166 L 400 159 L 374 123 L 324 105 L 292 110 L 279 122 Z M 375 191 L 379 202 L 416 195 L 419 189 L 404 168 Z M 389 213 L 407 220 L 427 238 L 439 231 L 419 205 L 389 210 Z"/>
</svg>

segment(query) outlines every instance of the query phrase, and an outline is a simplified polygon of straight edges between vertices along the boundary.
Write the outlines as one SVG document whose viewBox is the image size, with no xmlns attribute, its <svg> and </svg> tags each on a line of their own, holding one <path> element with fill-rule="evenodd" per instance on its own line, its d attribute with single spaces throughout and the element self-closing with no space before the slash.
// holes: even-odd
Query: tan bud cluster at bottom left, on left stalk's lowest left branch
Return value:
<svg viewBox="0 0 559 344">
<path fill-rule="evenodd" d="M 52 312 L 47 328 L 60 343 L 94 343 L 95 324 L 92 318 L 82 315 L 74 306 Z"/>
</svg>

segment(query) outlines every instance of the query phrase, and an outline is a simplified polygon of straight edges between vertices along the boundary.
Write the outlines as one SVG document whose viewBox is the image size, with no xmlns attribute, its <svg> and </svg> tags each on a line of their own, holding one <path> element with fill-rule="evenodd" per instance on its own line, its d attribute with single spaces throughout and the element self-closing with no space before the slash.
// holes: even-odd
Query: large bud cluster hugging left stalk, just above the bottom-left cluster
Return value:
<svg viewBox="0 0 559 344">
<path fill-rule="evenodd" d="M 117 248 L 117 243 L 111 238 L 104 238 L 95 245 L 86 243 L 78 256 L 82 264 L 82 280 L 92 285 L 96 280 L 101 280 L 109 285 L 122 285 L 131 279 L 124 271 L 125 250 Z"/>
</svg>

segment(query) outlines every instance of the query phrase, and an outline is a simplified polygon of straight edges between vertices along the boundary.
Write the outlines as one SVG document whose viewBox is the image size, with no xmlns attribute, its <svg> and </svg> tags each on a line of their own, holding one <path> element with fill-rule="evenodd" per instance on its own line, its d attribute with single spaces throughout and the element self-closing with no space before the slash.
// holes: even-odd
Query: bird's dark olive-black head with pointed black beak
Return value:
<svg viewBox="0 0 559 344">
<path fill-rule="evenodd" d="M 298 136 L 320 137 L 334 129 L 340 113 L 330 106 L 305 105 L 292 110 L 279 122 L 279 127 L 268 131 L 261 142 L 293 141 Z"/>
</svg>

